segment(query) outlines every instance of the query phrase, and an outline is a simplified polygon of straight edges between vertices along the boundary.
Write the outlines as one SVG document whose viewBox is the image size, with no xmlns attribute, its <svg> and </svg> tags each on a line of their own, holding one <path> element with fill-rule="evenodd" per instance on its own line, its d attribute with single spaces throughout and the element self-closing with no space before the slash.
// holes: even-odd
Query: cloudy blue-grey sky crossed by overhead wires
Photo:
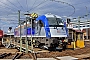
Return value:
<svg viewBox="0 0 90 60">
<path fill-rule="evenodd" d="M 7 31 L 18 26 L 20 18 L 25 20 L 25 13 L 43 15 L 52 13 L 61 17 L 90 19 L 90 0 L 0 0 L 0 28 Z M 85 16 L 88 14 L 87 16 Z"/>
</svg>

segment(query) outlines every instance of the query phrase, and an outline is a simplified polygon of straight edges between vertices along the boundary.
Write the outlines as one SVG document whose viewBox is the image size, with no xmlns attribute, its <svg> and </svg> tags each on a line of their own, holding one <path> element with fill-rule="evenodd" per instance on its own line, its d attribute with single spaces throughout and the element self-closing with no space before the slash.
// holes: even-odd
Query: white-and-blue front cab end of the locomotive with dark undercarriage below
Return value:
<svg viewBox="0 0 90 60">
<path fill-rule="evenodd" d="M 64 27 L 64 23 L 61 19 L 61 17 L 57 16 L 57 15 L 53 15 L 53 14 L 46 14 L 46 20 L 48 21 L 46 24 L 48 24 L 48 26 L 45 26 L 45 22 L 43 22 L 43 20 L 38 18 L 38 22 L 41 22 L 39 23 L 39 36 L 44 36 L 45 37 L 45 34 L 46 33 L 46 29 L 45 28 L 48 28 L 50 29 L 50 34 L 51 36 L 47 37 L 47 38 L 44 38 L 42 37 L 44 40 L 43 42 L 43 39 L 42 40 L 38 40 L 41 44 L 43 43 L 43 47 L 48 47 L 47 49 L 49 50 L 56 50 L 56 49 L 62 49 L 62 44 L 63 44 L 63 40 L 65 40 L 65 37 L 67 37 L 67 34 L 66 34 L 66 30 L 65 30 L 65 27 Z M 45 21 L 45 20 L 44 20 Z"/>
</svg>

